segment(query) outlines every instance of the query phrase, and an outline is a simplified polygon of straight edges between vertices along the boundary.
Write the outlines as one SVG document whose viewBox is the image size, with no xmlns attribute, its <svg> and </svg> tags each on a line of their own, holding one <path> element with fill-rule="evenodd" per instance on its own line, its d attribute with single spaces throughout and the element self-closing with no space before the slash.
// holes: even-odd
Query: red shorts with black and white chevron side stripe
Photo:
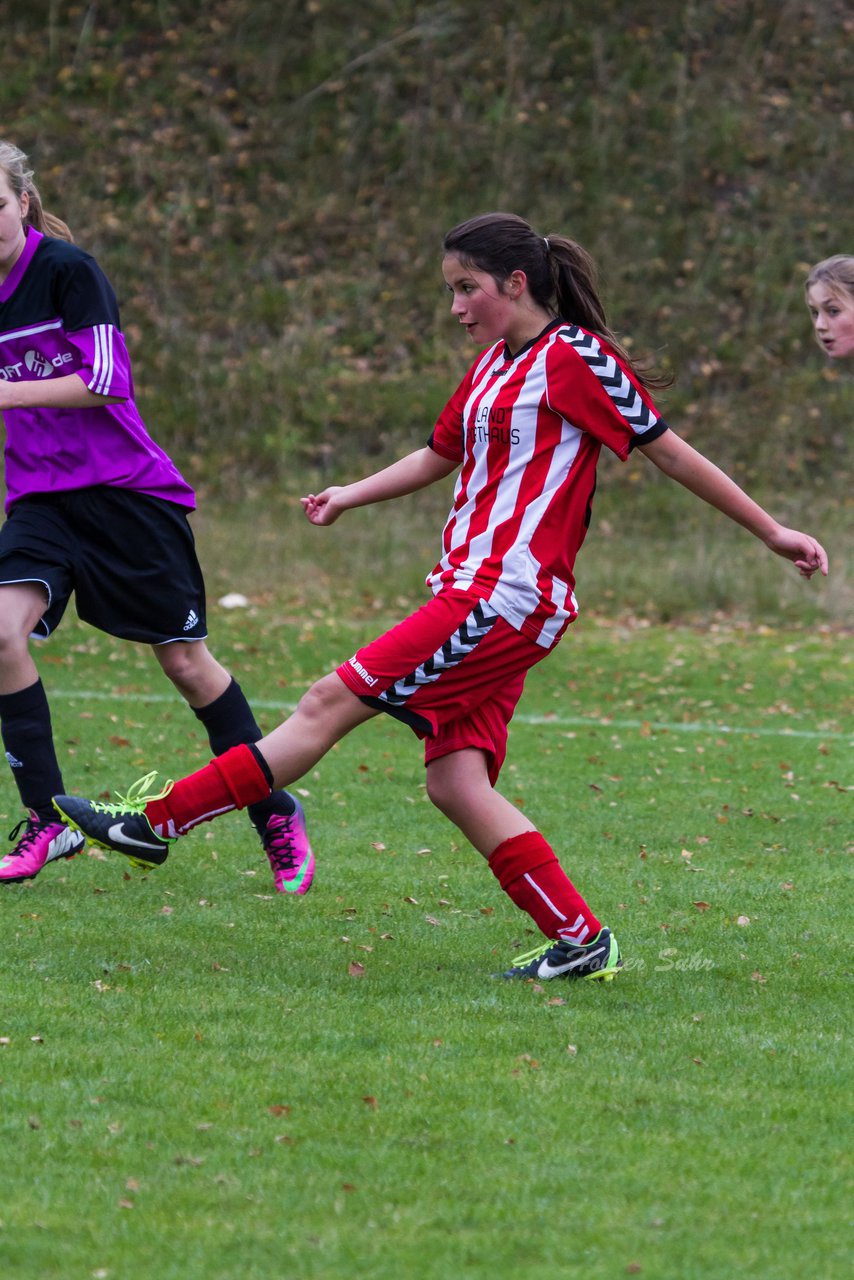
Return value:
<svg viewBox="0 0 854 1280">
<path fill-rule="evenodd" d="M 353 694 L 425 739 L 424 759 L 465 748 L 495 783 L 528 671 L 549 653 L 466 591 L 434 595 L 338 667 Z"/>
</svg>

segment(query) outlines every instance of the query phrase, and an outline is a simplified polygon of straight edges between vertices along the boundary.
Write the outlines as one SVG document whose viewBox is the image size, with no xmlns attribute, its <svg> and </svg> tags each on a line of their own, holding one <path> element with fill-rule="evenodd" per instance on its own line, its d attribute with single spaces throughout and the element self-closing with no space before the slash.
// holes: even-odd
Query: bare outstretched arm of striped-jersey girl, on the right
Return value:
<svg viewBox="0 0 854 1280">
<path fill-rule="evenodd" d="M 743 525 L 777 556 L 793 561 L 804 577 L 812 577 L 817 570 L 827 575 L 827 552 L 817 539 L 778 524 L 735 480 L 675 431 L 665 431 L 652 444 L 639 448 L 665 475 Z"/>
</svg>

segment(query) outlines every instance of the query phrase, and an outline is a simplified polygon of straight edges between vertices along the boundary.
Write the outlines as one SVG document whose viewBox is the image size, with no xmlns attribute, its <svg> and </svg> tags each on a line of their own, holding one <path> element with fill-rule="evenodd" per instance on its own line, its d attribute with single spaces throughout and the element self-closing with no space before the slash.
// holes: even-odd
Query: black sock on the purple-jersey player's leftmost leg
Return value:
<svg viewBox="0 0 854 1280">
<path fill-rule="evenodd" d="M 17 694 L 0 694 L 0 730 L 23 804 L 45 822 L 56 820 L 51 796 L 61 795 L 65 787 L 41 680 Z"/>
</svg>

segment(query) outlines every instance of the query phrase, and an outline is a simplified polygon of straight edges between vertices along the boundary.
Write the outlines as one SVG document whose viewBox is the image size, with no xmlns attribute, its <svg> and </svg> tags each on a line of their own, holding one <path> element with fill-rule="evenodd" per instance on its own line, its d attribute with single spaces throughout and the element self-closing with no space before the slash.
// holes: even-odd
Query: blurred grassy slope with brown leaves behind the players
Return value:
<svg viewBox="0 0 854 1280">
<path fill-rule="evenodd" d="M 813 261 L 854 252 L 848 0 L 0 19 L 0 132 L 111 275 L 143 413 L 204 493 L 302 492 L 423 440 L 471 358 L 442 233 L 510 209 L 593 252 L 689 439 L 782 518 L 850 515 L 854 383 L 803 302 Z M 604 466 L 617 504 L 659 509 L 652 468 Z"/>
</svg>

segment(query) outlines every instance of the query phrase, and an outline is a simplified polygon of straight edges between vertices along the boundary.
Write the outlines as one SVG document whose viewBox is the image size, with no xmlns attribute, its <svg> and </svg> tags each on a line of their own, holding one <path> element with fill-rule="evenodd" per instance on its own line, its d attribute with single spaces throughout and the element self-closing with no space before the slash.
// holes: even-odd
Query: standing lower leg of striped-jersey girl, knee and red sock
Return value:
<svg viewBox="0 0 854 1280">
<path fill-rule="evenodd" d="M 584 946 L 602 923 L 551 845 L 489 781 L 487 756 L 466 748 L 430 760 L 428 795 L 489 863 L 507 896 L 547 938 Z"/>
</svg>

